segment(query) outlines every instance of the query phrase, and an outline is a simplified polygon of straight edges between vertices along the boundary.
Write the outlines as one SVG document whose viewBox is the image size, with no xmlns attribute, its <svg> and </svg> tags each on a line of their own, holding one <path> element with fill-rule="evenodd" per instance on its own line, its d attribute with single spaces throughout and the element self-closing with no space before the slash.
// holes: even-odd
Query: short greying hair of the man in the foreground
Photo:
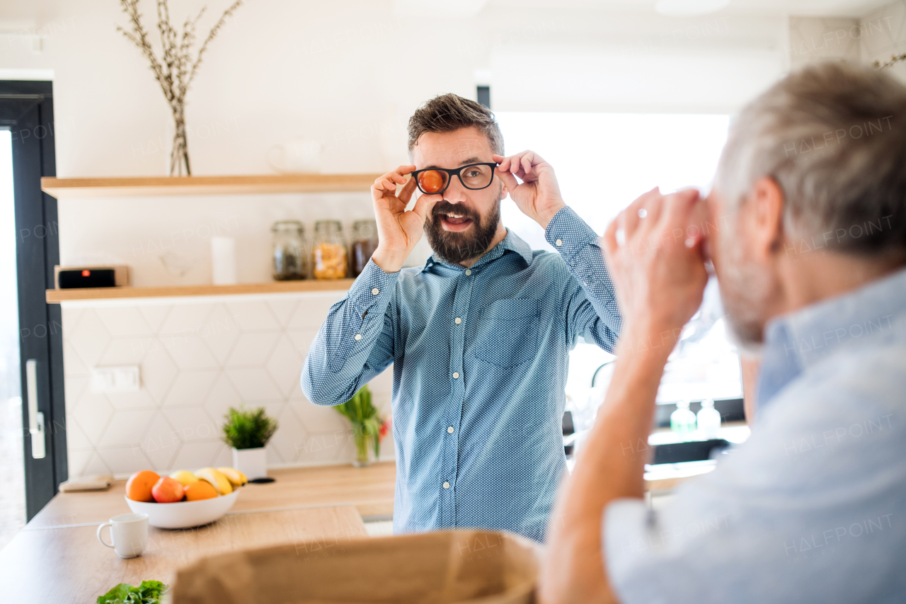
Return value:
<svg viewBox="0 0 906 604">
<path fill-rule="evenodd" d="M 762 177 L 783 190 L 803 249 L 903 254 L 906 86 L 849 63 L 789 74 L 739 113 L 714 186 L 733 209 Z"/>
</svg>

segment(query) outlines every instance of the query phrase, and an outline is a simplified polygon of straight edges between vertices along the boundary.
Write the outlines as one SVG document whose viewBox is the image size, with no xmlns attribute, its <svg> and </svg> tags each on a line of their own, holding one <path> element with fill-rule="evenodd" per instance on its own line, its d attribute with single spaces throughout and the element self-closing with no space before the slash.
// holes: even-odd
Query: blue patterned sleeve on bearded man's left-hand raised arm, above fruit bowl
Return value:
<svg viewBox="0 0 906 604">
<path fill-rule="evenodd" d="M 302 390 L 314 404 L 342 404 L 393 361 L 389 307 L 400 273 L 369 260 L 346 294 L 331 307 L 305 356 Z"/>
</svg>

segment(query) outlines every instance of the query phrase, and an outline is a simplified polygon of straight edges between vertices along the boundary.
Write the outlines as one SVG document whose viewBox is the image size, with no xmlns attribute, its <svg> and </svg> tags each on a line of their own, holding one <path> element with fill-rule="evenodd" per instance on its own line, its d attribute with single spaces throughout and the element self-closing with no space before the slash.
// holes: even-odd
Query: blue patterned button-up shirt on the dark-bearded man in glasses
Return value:
<svg viewBox="0 0 906 604">
<path fill-rule="evenodd" d="M 509 231 L 465 268 L 373 262 L 330 310 L 302 388 L 341 404 L 393 364 L 394 532 L 475 527 L 543 541 L 565 471 L 561 418 L 579 336 L 612 351 L 620 330 L 594 231 L 572 209 L 533 251 Z"/>
</svg>

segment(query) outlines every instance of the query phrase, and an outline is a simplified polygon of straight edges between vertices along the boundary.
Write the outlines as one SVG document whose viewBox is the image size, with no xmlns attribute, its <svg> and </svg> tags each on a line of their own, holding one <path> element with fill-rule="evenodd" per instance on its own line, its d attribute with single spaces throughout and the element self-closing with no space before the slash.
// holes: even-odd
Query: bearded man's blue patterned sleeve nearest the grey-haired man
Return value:
<svg viewBox="0 0 906 604">
<path fill-rule="evenodd" d="M 568 341 L 573 344 L 578 336 L 585 336 L 612 353 L 622 316 L 597 233 L 565 207 L 547 225 L 545 239 L 560 253 L 573 277 L 565 300 Z"/>
</svg>

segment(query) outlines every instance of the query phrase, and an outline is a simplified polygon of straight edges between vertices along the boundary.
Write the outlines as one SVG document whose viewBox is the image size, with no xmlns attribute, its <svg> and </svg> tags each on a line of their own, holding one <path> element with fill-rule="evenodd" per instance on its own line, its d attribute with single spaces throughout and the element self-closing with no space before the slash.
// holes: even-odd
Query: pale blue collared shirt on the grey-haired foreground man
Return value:
<svg viewBox="0 0 906 604">
<path fill-rule="evenodd" d="M 622 604 L 906 602 L 906 271 L 769 323 L 759 394 L 714 472 L 605 510 Z"/>
</svg>

